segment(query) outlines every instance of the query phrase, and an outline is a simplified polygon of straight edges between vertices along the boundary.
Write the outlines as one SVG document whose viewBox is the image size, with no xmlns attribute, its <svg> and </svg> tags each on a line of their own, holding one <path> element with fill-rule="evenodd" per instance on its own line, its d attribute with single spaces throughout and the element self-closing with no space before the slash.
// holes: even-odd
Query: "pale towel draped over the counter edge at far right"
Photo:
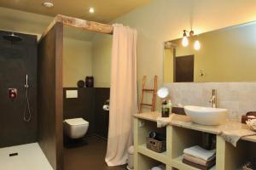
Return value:
<svg viewBox="0 0 256 170">
<path fill-rule="evenodd" d="M 241 129 L 241 130 L 226 130 L 222 131 L 220 136 L 230 144 L 233 144 L 236 147 L 236 144 L 239 139 L 245 136 L 253 136 L 256 135 L 256 132 L 253 132 L 249 129 Z"/>
</svg>

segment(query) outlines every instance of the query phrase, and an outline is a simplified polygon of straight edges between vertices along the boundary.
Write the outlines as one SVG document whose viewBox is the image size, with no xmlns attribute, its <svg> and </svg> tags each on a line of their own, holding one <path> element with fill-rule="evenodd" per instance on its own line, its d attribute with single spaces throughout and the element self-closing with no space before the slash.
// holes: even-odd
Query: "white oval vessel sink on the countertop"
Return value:
<svg viewBox="0 0 256 170">
<path fill-rule="evenodd" d="M 219 125 L 225 122 L 227 111 L 226 109 L 201 107 L 194 105 L 184 106 L 187 116 L 190 116 L 192 122 L 202 125 Z"/>
</svg>

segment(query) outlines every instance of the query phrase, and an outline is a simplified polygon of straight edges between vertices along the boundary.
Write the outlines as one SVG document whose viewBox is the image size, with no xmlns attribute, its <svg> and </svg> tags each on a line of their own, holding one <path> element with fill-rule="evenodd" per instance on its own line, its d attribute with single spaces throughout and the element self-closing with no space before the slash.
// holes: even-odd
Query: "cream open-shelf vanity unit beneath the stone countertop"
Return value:
<svg viewBox="0 0 256 170">
<path fill-rule="evenodd" d="M 151 131 L 166 133 L 166 152 L 158 153 L 147 149 L 146 137 Z M 206 143 L 203 139 L 207 139 L 206 136 L 209 134 L 214 141 L 212 147 L 216 147 L 216 169 L 241 169 L 247 161 L 253 161 L 253 157 L 256 158 L 256 136 L 242 138 L 234 147 L 216 133 L 206 133 L 175 125 L 157 128 L 155 121 L 136 117 L 134 118 L 134 169 L 148 170 L 163 163 L 166 165 L 166 170 L 198 170 L 183 163 L 183 150 L 195 145 L 205 148 Z"/>
</svg>

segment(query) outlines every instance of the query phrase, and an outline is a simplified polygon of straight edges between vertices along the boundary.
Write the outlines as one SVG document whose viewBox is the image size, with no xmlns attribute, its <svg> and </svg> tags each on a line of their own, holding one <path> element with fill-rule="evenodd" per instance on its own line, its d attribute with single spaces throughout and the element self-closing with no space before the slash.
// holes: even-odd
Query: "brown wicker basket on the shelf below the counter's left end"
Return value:
<svg viewBox="0 0 256 170">
<path fill-rule="evenodd" d="M 147 137 L 147 148 L 159 153 L 164 152 L 166 151 L 166 140 L 160 141 Z"/>
</svg>

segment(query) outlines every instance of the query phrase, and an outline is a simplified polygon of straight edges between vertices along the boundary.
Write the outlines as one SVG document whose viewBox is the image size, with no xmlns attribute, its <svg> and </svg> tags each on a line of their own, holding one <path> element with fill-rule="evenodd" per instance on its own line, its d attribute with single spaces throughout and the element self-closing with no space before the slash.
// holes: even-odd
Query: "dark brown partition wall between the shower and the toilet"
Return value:
<svg viewBox="0 0 256 170">
<path fill-rule="evenodd" d="M 38 43 L 38 141 L 55 170 L 63 169 L 62 48 L 63 25 L 56 23 Z"/>
</svg>

